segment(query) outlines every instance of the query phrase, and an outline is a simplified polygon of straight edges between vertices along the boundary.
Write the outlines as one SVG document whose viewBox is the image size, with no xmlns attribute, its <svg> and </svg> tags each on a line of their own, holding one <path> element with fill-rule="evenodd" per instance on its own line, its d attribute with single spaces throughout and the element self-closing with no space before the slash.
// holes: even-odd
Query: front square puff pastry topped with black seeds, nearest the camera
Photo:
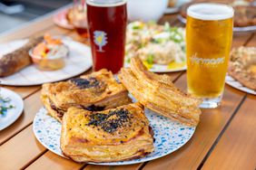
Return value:
<svg viewBox="0 0 256 170">
<path fill-rule="evenodd" d="M 139 103 L 91 112 L 70 108 L 64 114 L 61 148 L 76 162 L 114 162 L 153 152 L 153 131 Z"/>
</svg>

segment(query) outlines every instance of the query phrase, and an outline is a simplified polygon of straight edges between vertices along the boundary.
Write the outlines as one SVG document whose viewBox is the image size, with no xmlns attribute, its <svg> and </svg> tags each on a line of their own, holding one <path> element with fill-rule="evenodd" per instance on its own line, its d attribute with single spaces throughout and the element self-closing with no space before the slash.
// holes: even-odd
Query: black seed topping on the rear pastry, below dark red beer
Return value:
<svg viewBox="0 0 256 170">
<path fill-rule="evenodd" d="M 70 81 L 80 89 L 94 88 L 99 86 L 100 84 L 99 80 L 96 80 L 95 78 L 89 78 L 89 79 L 74 78 L 74 79 L 71 79 Z"/>
</svg>

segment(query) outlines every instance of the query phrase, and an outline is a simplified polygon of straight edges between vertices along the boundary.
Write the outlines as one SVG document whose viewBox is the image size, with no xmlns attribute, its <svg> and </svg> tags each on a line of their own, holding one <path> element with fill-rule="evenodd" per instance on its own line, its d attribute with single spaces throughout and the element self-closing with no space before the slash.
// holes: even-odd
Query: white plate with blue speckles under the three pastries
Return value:
<svg viewBox="0 0 256 170">
<path fill-rule="evenodd" d="M 130 161 L 120 161 L 112 163 L 88 163 L 93 165 L 133 165 L 151 161 L 162 156 L 171 154 L 175 150 L 186 144 L 192 137 L 195 127 L 188 127 L 181 123 L 172 121 L 155 114 L 149 109 L 145 109 L 146 117 L 150 121 L 154 132 L 154 151 L 148 156 Z M 56 155 L 63 156 L 60 148 L 61 123 L 47 114 L 42 108 L 35 115 L 33 129 L 34 135 L 39 142 Z M 66 157 L 67 158 L 67 157 Z"/>
</svg>

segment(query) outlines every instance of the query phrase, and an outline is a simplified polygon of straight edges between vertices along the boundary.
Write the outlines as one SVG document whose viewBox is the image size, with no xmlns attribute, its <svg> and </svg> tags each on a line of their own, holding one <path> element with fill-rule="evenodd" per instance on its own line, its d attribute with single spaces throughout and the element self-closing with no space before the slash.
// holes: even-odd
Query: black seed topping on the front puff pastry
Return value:
<svg viewBox="0 0 256 170">
<path fill-rule="evenodd" d="M 95 113 L 90 115 L 87 125 L 101 127 L 103 131 L 113 133 L 118 127 L 123 127 L 130 118 L 133 118 L 133 115 L 129 114 L 127 109 L 115 109 L 109 111 L 108 114 Z"/>
</svg>

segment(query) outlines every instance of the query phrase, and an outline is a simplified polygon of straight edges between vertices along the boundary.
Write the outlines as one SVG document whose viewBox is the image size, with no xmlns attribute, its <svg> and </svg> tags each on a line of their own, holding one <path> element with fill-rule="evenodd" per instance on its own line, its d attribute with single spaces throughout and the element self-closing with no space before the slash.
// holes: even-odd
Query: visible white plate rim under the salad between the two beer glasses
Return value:
<svg viewBox="0 0 256 170">
<path fill-rule="evenodd" d="M 130 64 L 125 62 L 124 63 L 124 67 L 129 67 Z M 187 70 L 187 66 L 183 66 L 181 68 L 178 69 L 169 69 L 168 65 L 161 65 L 161 64 L 153 64 L 152 68 L 150 69 L 150 71 L 153 72 L 176 72 L 176 71 L 186 71 Z"/>
</svg>

